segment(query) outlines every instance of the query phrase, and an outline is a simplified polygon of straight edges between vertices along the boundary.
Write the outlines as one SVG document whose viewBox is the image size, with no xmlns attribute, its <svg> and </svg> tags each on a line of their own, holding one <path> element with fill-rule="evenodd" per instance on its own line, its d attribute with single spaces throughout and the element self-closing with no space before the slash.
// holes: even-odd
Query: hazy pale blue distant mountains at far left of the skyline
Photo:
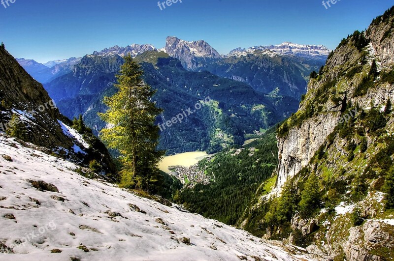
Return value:
<svg viewBox="0 0 394 261">
<path fill-rule="evenodd" d="M 80 59 L 81 58 L 69 58 L 65 60 L 49 61 L 45 64 L 24 58 L 17 59 L 17 61 L 36 81 L 45 84 L 70 72 L 72 67 L 77 64 Z M 49 65 L 52 64 L 53 66 L 49 67 Z"/>
</svg>

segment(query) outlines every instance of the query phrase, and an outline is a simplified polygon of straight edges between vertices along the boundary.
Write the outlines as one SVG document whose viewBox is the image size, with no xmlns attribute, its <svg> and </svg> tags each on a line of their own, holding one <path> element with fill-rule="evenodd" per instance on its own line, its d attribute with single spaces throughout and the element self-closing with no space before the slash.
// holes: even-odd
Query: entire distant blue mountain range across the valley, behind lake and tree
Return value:
<svg viewBox="0 0 394 261">
<path fill-rule="evenodd" d="M 217 152 L 228 145 L 242 144 L 247 137 L 296 112 L 308 76 L 321 67 L 327 49 L 294 46 L 297 54 L 285 53 L 288 46 L 282 46 L 276 51 L 256 48 L 245 56 L 222 56 L 203 40 L 187 42 L 167 37 L 165 47 L 159 50 L 152 45 L 114 46 L 83 58 L 48 62 L 60 62 L 52 68 L 30 60 L 19 62 L 33 77 L 47 79 L 44 87 L 63 114 L 70 118 L 83 115 L 98 135 L 105 126 L 97 116 L 105 110 L 103 96 L 114 93 L 112 85 L 123 64 L 122 57 L 131 54 L 143 66 L 145 81 L 158 90 L 155 100 L 165 110 L 158 124 L 193 107 L 200 99 L 212 99 L 209 109 L 186 119 L 188 124 L 165 130 L 160 148 L 167 154 Z M 321 53 L 310 55 L 315 52 Z M 303 57 L 298 56 L 300 53 Z"/>
</svg>

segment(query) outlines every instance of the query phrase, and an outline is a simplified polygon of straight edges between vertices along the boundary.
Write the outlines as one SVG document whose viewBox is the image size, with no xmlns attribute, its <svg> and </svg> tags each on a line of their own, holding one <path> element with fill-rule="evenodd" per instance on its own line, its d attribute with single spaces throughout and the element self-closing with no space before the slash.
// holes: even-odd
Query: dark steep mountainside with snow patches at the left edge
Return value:
<svg viewBox="0 0 394 261">
<path fill-rule="evenodd" d="M 89 131 L 78 133 L 72 129 L 73 123 L 60 114 L 42 85 L 4 48 L 0 48 L 0 74 L 0 131 L 7 132 L 17 125 L 18 138 L 32 147 L 45 147 L 46 153 L 81 166 L 97 160 L 99 172 L 115 173 L 115 165 L 99 140 Z"/>
</svg>

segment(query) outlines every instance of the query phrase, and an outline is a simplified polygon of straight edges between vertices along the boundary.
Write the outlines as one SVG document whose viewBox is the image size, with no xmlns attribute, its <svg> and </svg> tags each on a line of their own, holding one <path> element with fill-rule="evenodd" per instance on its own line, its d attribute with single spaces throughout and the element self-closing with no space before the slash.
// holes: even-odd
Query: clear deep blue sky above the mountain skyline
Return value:
<svg viewBox="0 0 394 261">
<path fill-rule="evenodd" d="M 334 49 L 392 5 L 340 0 L 326 9 L 322 0 L 182 0 L 161 11 L 157 0 L 16 0 L 0 5 L 0 40 L 14 57 L 39 62 L 114 45 L 162 48 L 169 35 L 206 40 L 222 54 L 285 41 Z"/>
</svg>

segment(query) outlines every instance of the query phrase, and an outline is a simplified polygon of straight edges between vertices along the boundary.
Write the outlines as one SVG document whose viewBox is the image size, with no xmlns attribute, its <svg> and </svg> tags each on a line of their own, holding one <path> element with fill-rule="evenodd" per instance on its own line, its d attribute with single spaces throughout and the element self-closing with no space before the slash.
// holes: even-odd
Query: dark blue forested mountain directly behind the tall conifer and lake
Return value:
<svg viewBox="0 0 394 261">
<path fill-rule="evenodd" d="M 245 134 L 259 132 L 296 110 L 294 99 L 265 95 L 250 86 L 208 72 L 190 72 L 164 52 L 145 52 L 135 58 L 145 71 L 144 80 L 157 89 L 154 100 L 164 109 L 158 124 L 172 119 L 200 101 L 202 109 L 181 124 L 163 129 L 160 148 L 168 154 L 208 150 L 242 144 Z M 96 133 L 105 126 L 97 116 L 105 110 L 102 98 L 116 90 L 112 84 L 123 58 L 89 55 L 74 71 L 45 85 L 66 116 L 82 114 Z M 98 95 L 99 94 L 99 95 Z"/>
</svg>

